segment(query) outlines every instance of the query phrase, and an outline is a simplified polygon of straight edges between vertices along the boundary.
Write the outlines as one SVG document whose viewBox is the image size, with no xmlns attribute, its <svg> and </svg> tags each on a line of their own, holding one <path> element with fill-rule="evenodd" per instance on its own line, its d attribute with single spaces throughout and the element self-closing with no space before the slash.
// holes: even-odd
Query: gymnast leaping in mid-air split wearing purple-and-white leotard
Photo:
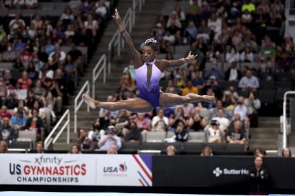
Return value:
<svg viewBox="0 0 295 196">
<path fill-rule="evenodd" d="M 167 94 L 162 92 L 159 86 L 159 80 L 163 71 L 170 67 L 181 67 L 182 65 L 185 65 L 185 63 L 189 63 L 196 58 L 196 55 L 191 54 L 190 52 L 186 58 L 181 58 L 176 61 L 156 60 L 155 57 L 158 54 L 159 48 L 155 39 L 146 40 L 142 54 L 140 54 L 135 49 L 130 34 L 125 30 L 118 10 L 115 10 L 113 18 L 119 26 L 119 31 L 127 46 L 128 53 L 134 62 L 139 98 L 120 100 L 118 102 L 101 102 L 90 98 L 88 94 L 83 94 L 83 101 L 92 109 L 95 109 L 96 107 L 108 111 L 126 109 L 131 112 L 142 113 L 152 111 L 157 107 L 174 107 L 189 102 L 215 102 L 214 96 L 201 96 L 198 94 L 179 96 L 177 94 Z"/>
</svg>

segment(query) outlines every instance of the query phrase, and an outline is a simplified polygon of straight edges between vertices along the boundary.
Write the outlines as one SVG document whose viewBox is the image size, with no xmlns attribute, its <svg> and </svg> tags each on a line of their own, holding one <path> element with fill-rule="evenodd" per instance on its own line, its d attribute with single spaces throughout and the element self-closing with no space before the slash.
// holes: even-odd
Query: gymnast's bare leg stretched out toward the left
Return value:
<svg viewBox="0 0 295 196">
<path fill-rule="evenodd" d="M 127 109 L 128 111 L 135 113 L 148 112 L 154 109 L 149 102 L 143 100 L 142 98 L 132 98 L 129 100 L 121 100 L 118 102 L 100 102 L 90 98 L 88 94 L 83 94 L 82 100 L 92 109 L 96 109 L 96 107 L 106 109 L 108 111 Z"/>
</svg>

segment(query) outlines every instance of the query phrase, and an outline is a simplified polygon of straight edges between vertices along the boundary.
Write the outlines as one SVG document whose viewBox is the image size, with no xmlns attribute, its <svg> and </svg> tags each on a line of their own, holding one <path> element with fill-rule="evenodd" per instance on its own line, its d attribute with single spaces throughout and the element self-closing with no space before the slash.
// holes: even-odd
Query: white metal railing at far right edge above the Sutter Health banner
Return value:
<svg viewBox="0 0 295 196">
<path fill-rule="evenodd" d="M 295 96 L 295 91 L 287 91 L 284 94 L 284 102 L 283 102 L 283 148 L 287 147 L 287 135 L 290 133 L 289 123 L 291 123 L 291 119 L 287 119 L 287 96 L 293 95 Z"/>
</svg>

